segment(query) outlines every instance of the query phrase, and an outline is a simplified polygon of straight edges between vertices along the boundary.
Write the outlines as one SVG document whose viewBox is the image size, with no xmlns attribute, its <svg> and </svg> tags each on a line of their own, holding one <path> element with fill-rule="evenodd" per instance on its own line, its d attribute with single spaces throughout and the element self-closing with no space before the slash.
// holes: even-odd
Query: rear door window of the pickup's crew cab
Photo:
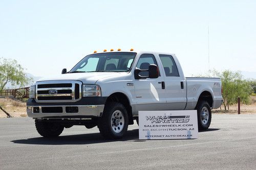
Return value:
<svg viewBox="0 0 256 170">
<path fill-rule="evenodd" d="M 174 61 L 173 56 L 170 55 L 159 55 L 163 64 L 164 72 L 166 77 L 179 77 L 179 72 Z"/>
</svg>

